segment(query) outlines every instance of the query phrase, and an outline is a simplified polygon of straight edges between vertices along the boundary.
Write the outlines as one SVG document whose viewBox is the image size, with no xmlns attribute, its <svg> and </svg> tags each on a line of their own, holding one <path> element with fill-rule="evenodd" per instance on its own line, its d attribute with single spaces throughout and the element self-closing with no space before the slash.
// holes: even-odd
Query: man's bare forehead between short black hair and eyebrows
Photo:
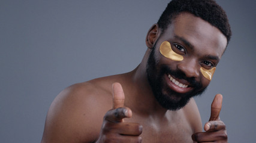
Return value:
<svg viewBox="0 0 256 143">
<path fill-rule="evenodd" d="M 219 58 L 227 46 L 227 38 L 218 28 L 190 13 L 177 15 L 162 36 L 177 40 L 176 42 L 180 40 L 177 37 L 185 39 L 195 50 L 204 51 L 209 55 L 214 54 Z"/>
</svg>

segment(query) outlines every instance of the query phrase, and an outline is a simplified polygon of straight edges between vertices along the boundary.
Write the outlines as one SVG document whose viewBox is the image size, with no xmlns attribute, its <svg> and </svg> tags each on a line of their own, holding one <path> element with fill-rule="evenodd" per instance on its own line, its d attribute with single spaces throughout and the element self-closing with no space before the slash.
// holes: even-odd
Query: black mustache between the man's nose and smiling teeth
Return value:
<svg viewBox="0 0 256 143">
<path fill-rule="evenodd" d="M 184 79 L 190 83 L 190 86 L 195 88 L 201 88 L 201 82 L 195 80 L 195 77 L 186 77 L 186 74 L 181 70 L 171 70 L 168 66 L 162 66 L 162 74 L 171 74 L 171 76 L 176 77 L 177 79 Z"/>
</svg>

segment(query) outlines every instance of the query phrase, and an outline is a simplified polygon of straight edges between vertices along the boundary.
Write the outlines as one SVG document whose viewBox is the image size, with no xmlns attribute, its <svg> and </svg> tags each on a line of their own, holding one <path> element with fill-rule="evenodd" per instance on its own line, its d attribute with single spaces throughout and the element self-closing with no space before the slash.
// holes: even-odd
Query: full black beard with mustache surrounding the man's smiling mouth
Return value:
<svg viewBox="0 0 256 143">
<path fill-rule="evenodd" d="M 186 77 L 186 74 L 181 70 L 172 70 L 166 65 L 157 66 L 158 61 L 155 60 L 155 47 L 150 52 L 147 60 L 147 80 L 151 86 L 153 95 L 158 103 L 167 110 L 179 110 L 184 107 L 190 98 L 201 95 L 206 88 L 202 88 L 201 82 L 197 82 L 194 77 Z M 176 79 L 185 79 L 192 86 L 192 91 L 185 94 L 180 94 L 170 89 L 164 79 L 167 74 L 170 74 Z"/>
</svg>

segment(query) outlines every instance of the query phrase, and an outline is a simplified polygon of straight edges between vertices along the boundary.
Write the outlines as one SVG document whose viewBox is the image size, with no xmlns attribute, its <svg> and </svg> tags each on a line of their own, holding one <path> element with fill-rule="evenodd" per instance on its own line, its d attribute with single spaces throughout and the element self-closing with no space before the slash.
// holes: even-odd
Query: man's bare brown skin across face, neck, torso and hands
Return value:
<svg viewBox="0 0 256 143">
<path fill-rule="evenodd" d="M 64 89 L 50 106 L 41 142 L 227 142 L 225 125 L 219 119 L 221 95 L 213 100 L 210 121 L 204 126 L 207 131 L 201 132 L 194 99 L 177 111 L 162 108 L 146 75 L 147 58 L 155 45 L 158 65 L 168 64 L 172 69 L 182 70 L 206 87 L 210 81 L 200 72 L 200 67 L 206 66 L 202 61 L 210 60 L 216 66 L 219 60 L 206 57 L 220 59 L 227 39 L 216 27 L 188 13 L 179 14 L 160 35 L 161 30 L 154 24 L 146 36 L 146 54 L 135 70 Z M 186 48 L 184 60 L 171 61 L 162 56 L 159 45 L 163 41 L 182 44 Z"/>
</svg>

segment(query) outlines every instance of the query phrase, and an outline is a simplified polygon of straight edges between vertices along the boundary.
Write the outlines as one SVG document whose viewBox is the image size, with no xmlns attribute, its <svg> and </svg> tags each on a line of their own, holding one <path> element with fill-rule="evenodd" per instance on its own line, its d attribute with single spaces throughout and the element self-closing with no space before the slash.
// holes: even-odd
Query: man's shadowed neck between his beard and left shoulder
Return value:
<svg viewBox="0 0 256 143">
<path fill-rule="evenodd" d="M 128 107 L 133 112 L 144 114 L 145 116 L 164 116 L 167 110 L 162 108 L 156 101 L 152 89 L 147 81 L 147 58 L 150 51 L 147 50 L 140 65 L 131 71 L 131 85 L 127 89 L 129 97 Z"/>
</svg>

